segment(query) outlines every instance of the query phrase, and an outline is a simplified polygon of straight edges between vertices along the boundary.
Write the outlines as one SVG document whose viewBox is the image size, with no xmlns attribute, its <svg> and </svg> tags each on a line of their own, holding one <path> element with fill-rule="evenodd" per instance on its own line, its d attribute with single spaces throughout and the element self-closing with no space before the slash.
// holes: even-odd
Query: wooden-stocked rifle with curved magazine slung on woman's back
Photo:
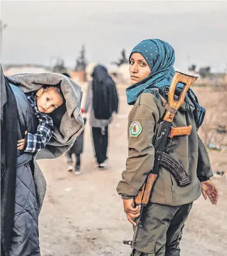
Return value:
<svg viewBox="0 0 227 256">
<path fill-rule="evenodd" d="M 174 119 L 175 113 L 184 103 L 184 98 L 186 97 L 187 91 L 190 86 L 195 82 L 198 77 L 189 76 L 187 74 L 180 73 L 175 71 L 174 77 L 170 85 L 170 90 L 168 92 L 168 103 L 165 106 L 167 110 L 165 112 L 164 118 L 156 125 L 155 134 L 153 137 L 153 146 L 155 147 L 155 161 L 152 170 L 147 176 L 143 186 L 140 188 L 137 196 L 135 197 L 135 204 L 141 204 L 140 216 L 137 219 L 137 227 L 135 228 L 134 236 L 131 241 L 123 240 L 125 245 L 131 245 L 131 248 L 134 249 L 137 245 L 137 234 L 138 230 L 141 227 L 141 216 L 143 214 L 143 209 L 149 202 L 150 193 L 152 192 L 152 187 L 155 183 L 156 178 L 158 177 L 159 166 L 163 165 L 174 175 L 179 186 L 185 186 L 190 183 L 190 179 L 187 176 L 186 171 L 183 166 L 174 158 L 167 155 L 164 152 L 165 144 L 167 138 L 178 136 L 178 135 L 190 135 L 192 130 L 191 125 L 187 127 L 171 127 L 172 121 Z M 184 84 L 183 89 L 181 90 L 178 100 L 174 100 L 175 89 L 177 83 L 181 82 Z"/>
</svg>

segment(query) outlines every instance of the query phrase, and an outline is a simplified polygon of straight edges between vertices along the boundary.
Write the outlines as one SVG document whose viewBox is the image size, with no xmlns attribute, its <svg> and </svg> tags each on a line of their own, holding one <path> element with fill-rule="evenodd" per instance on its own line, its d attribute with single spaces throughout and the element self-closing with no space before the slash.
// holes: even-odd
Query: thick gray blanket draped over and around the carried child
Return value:
<svg viewBox="0 0 227 256">
<path fill-rule="evenodd" d="M 37 153 L 36 159 L 56 158 L 74 143 L 75 138 L 84 129 L 80 105 L 82 91 L 73 80 L 56 73 L 16 74 L 12 76 L 25 93 L 37 91 L 43 85 L 59 85 L 65 98 L 65 104 L 50 114 L 55 129 L 52 138 L 44 150 Z"/>
</svg>

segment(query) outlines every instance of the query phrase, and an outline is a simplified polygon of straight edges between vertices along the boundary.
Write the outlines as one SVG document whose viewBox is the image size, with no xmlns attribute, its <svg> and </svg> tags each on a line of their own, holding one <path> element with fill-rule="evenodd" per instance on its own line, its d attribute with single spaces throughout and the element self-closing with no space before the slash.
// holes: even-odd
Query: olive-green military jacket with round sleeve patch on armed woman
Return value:
<svg viewBox="0 0 227 256">
<path fill-rule="evenodd" d="M 204 144 L 199 138 L 193 117 L 193 104 L 190 108 L 182 106 L 175 114 L 172 125 L 184 127 L 192 125 L 190 135 L 180 135 L 168 138 L 168 154 L 183 165 L 191 183 L 180 187 L 174 177 L 165 167 L 159 167 L 158 177 L 153 185 L 150 201 L 153 203 L 180 206 L 191 203 L 201 195 L 199 179 L 206 180 L 213 176 L 210 160 Z M 190 110 L 189 110 L 190 109 Z M 165 113 L 162 100 L 151 93 L 143 93 L 138 97 L 128 117 L 128 159 L 122 180 L 117 186 L 117 192 L 122 198 L 137 195 L 147 174 L 152 170 L 155 149 L 152 144 L 155 125 Z M 132 137 L 133 121 L 141 129 L 137 137 Z M 141 126 L 140 126 L 141 125 Z M 199 177 L 199 179 L 198 179 Z"/>
</svg>

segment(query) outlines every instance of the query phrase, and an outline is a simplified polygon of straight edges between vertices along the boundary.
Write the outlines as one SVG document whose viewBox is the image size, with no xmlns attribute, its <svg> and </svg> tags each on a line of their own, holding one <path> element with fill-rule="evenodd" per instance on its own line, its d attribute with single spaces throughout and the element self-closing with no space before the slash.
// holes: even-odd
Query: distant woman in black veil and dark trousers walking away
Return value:
<svg viewBox="0 0 227 256">
<path fill-rule="evenodd" d="M 116 85 L 102 65 L 96 65 L 91 74 L 84 104 L 84 113 L 90 109 L 90 126 L 92 127 L 95 158 L 99 168 L 105 166 L 108 147 L 108 124 L 113 112 L 118 111 Z"/>
</svg>

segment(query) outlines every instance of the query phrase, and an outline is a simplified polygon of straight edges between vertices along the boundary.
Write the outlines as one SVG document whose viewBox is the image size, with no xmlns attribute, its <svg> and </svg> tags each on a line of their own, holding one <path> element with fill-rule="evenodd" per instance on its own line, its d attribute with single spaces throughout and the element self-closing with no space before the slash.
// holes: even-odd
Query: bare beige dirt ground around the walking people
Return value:
<svg viewBox="0 0 227 256">
<path fill-rule="evenodd" d="M 84 87 L 84 95 L 86 85 Z M 203 89 L 205 90 L 205 89 Z M 85 128 L 80 176 L 66 171 L 65 156 L 38 161 L 47 180 L 41 210 L 40 246 L 43 256 L 126 256 L 131 248 L 122 240 L 132 239 L 132 227 L 123 212 L 116 186 L 127 157 L 127 115 L 125 86 L 118 87 L 119 114 L 109 129 L 109 160 L 104 170 L 96 168 L 89 122 Z M 205 91 L 199 91 L 204 97 Z M 213 170 L 226 153 L 210 153 Z M 222 165 L 223 167 L 223 165 Z M 181 241 L 181 255 L 227 255 L 227 179 L 213 178 L 220 189 L 217 206 L 200 197 L 193 203 Z"/>
</svg>

